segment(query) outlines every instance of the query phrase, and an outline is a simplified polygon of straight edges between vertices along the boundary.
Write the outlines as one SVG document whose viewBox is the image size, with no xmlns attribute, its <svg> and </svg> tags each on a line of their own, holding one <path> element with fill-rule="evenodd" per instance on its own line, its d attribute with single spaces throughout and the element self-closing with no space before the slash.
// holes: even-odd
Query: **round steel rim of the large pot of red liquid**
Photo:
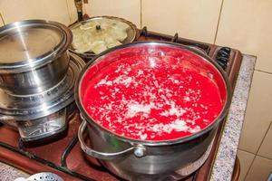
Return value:
<svg viewBox="0 0 272 181">
<path fill-rule="evenodd" d="M 147 45 L 151 45 L 151 44 L 159 45 L 159 44 L 161 44 L 161 45 L 167 45 L 167 46 L 171 46 L 171 47 L 185 49 L 185 50 L 188 50 L 190 52 L 193 52 L 193 53 L 199 55 L 200 57 L 202 57 L 204 59 L 204 61 L 209 62 L 215 68 L 217 68 L 217 71 L 219 71 L 219 74 L 221 75 L 223 81 L 225 82 L 226 101 L 225 101 L 223 109 L 219 113 L 219 116 L 211 124 L 209 124 L 208 127 L 206 127 L 205 129 L 201 129 L 199 132 L 196 132 L 194 134 L 191 134 L 189 136 L 182 137 L 182 138 L 175 138 L 175 139 L 161 140 L 161 141 L 138 140 L 138 139 L 121 137 L 120 135 L 117 135 L 117 134 L 113 133 L 112 131 L 110 131 L 108 129 L 104 129 L 101 125 L 97 124 L 92 119 L 91 116 L 88 115 L 88 113 L 86 112 L 86 110 L 83 107 L 83 104 L 82 104 L 82 101 L 81 101 L 81 96 L 80 96 L 80 88 L 81 88 L 81 85 L 82 85 L 83 76 L 84 76 L 85 72 L 88 71 L 89 67 L 91 67 L 92 64 L 96 63 L 96 60 L 98 60 L 100 57 L 108 54 L 109 52 L 113 52 L 113 51 L 116 51 L 116 50 L 119 50 L 119 49 L 122 49 L 122 48 L 127 48 L 127 47 L 137 46 L 137 45 L 144 45 L 144 44 L 147 44 Z M 111 135 L 113 137 L 121 139 L 121 141 L 131 143 L 131 145 L 144 145 L 144 146 L 151 146 L 151 147 L 163 146 L 163 145 L 175 145 L 175 144 L 180 144 L 180 143 L 192 140 L 194 138 L 199 138 L 200 136 L 202 136 L 205 133 L 209 132 L 211 129 L 214 129 L 215 127 L 217 127 L 219 122 L 222 119 L 224 119 L 225 116 L 227 116 L 228 109 L 229 109 L 230 102 L 231 102 L 231 87 L 230 87 L 230 84 L 229 84 L 229 81 L 228 81 L 228 76 L 227 76 L 226 72 L 223 71 L 223 69 L 219 66 L 219 64 L 217 62 L 215 62 L 213 59 L 211 59 L 208 55 L 203 54 L 201 52 L 198 52 L 198 51 L 196 51 L 194 49 L 191 49 L 186 45 L 182 45 L 182 44 L 179 44 L 179 43 L 162 42 L 162 41 L 146 41 L 146 42 L 136 42 L 136 43 L 121 44 L 119 46 L 108 49 L 105 52 L 101 52 L 100 54 L 93 57 L 93 59 L 83 67 L 83 70 L 80 72 L 80 75 L 79 75 L 79 77 L 77 78 L 77 80 L 75 82 L 74 89 L 75 89 L 74 90 L 74 96 L 75 96 L 75 102 L 77 104 L 77 107 L 80 110 L 83 118 L 85 120 L 87 120 L 87 122 L 89 124 L 92 124 L 92 126 L 98 128 L 98 129 L 102 129 L 102 131 L 106 132 L 107 134 L 109 134 L 109 135 Z"/>
</svg>

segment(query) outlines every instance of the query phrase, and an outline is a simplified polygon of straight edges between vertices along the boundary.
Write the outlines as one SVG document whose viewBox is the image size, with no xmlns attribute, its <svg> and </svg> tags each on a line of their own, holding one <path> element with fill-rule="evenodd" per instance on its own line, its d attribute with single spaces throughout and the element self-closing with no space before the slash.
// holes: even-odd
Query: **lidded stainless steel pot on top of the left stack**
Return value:
<svg viewBox="0 0 272 181">
<path fill-rule="evenodd" d="M 0 28 L 0 88 L 12 95 L 43 92 L 63 80 L 73 35 L 63 24 L 25 20 Z"/>
</svg>

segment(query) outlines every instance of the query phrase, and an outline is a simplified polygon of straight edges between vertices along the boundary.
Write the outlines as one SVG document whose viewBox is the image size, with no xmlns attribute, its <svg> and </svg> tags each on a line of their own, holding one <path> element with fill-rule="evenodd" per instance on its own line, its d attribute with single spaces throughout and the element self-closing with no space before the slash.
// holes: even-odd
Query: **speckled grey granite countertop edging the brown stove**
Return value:
<svg viewBox="0 0 272 181">
<path fill-rule="evenodd" d="M 224 125 L 223 134 L 219 142 L 219 149 L 212 167 L 211 176 L 209 179 L 211 181 L 231 180 L 238 150 L 238 140 L 245 118 L 255 62 L 256 57 L 251 55 L 243 55 L 228 118 Z M 28 175 L 15 167 L 10 167 L 0 162 L 1 181 L 13 181 L 19 176 L 27 177 Z"/>
</svg>

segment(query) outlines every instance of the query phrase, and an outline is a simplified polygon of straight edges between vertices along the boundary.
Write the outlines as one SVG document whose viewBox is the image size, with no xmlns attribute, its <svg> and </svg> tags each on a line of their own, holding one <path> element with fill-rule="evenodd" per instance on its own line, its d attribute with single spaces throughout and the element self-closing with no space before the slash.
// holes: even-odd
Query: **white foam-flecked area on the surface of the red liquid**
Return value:
<svg viewBox="0 0 272 181">
<path fill-rule="evenodd" d="M 121 136 L 141 140 L 176 132 L 193 134 L 201 130 L 199 122 L 208 125 L 210 120 L 202 117 L 212 105 L 199 103 L 202 82 L 187 76 L 188 70 L 167 64 L 166 58 L 162 63 L 156 57 L 134 57 L 131 65 L 126 60 L 112 66 L 111 72 L 93 86 L 99 99 L 87 107 L 97 122 Z M 145 60 L 150 67 L 140 69 Z M 176 74 L 172 75 L 172 69 Z M 190 84 L 195 86 L 189 87 Z"/>
</svg>

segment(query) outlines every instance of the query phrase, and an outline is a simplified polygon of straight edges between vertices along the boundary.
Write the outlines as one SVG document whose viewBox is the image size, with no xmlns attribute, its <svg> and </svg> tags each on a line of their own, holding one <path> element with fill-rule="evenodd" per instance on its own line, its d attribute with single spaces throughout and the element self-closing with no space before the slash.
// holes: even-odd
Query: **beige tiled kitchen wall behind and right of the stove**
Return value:
<svg viewBox="0 0 272 181">
<path fill-rule="evenodd" d="M 257 67 L 238 150 L 240 180 L 266 180 L 272 171 L 272 1 L 89 0 L 90 15 L 126 18 L 138 27 L 227 45 L 257 55 Z M 73 0 L 0 0 L 5 23 L 45 18 L 72 24 Z M 0 26 L 3 22 L 0 19 Z"/>
</svg>

